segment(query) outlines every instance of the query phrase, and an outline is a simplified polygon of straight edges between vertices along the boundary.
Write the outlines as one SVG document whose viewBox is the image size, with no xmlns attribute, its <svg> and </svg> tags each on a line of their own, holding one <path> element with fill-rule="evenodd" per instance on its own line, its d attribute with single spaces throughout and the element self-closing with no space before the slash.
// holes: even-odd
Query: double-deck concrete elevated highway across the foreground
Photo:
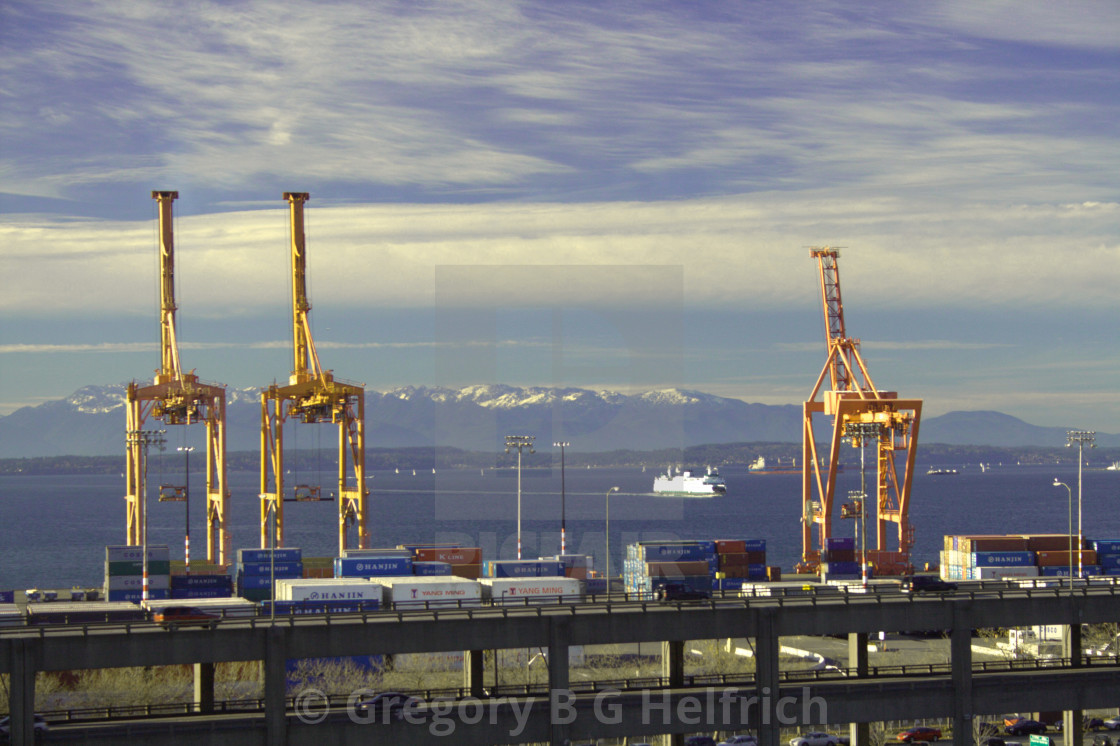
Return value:
<svg viewBox="0 0 1120 746">
<path fill-rule="evenodd" d="M 1120 619 L 1120 588 L 987 585 L 943 597 L 899 593 L 760 598 L 715 598 L 689 604 L 605 602 L 535 607 L 382 612 L 330 617 L 228 619 L 213 630 L 164 630 L 152 624 L 46 626 L 0 632 L 0 672 L 11 675 L 10 711 L 30 724 L 34 678 L 40 671 L 193 664 L 196 694 L 213 701 L 213 663 L 264 661 L 264 711 L 81 727 L 85 743 L 304 744 L 562 743 L 564 738 L 697 733 L 757 727 L 762 746 L 776 746 L 782 726 L 945 717 L 954 744 L 970 743 L 973 715 L 1029 709 L 1113 707 L 1120 668 L 1086 665 L 1082 624 Z M 1067 625 L 1063 665 L 982 671 L 972 662 L 972 631 L 1035 624 Z M 945 631 L 949 670 L 933 674 L 874 674 L 870 633 Z M 797 682 L 781 675 L 780 637 L 847 635 L 855 675 Z M 750 637 L 753 681 L 687 684 L 688 640 Z M 569 687 L 568 647 L 661 643 L 663 682 L 643 691 L 576 693 Z M 483 688 L 482 652 L 542 647 L 549 653 L 550 696 L 491 697 Z M 419 708 L 417 722 L 362 722 L 340 708 L 291 709 L 284 661 L 296 658 L 466 651 L 468 696 Z M 207 671 L 209 690 L 207 692 Z M 728 703 L 734 702 L 734 703 Z M 442 709 L 450 708 L 444 715 Z M 466 709 L 465 709 L 466 708 Z M 474 709 L 470 709 L 474 708 Z M 342 708 L 345 709 L 345 708 Z M 475 718 L 475 710 L 484 716 Z M 310 714 L 310 715 L 309 715 Z M 615 722 L 615 716 L 618 721 Z M 465 716 L 465 717 L 464 717 Z M 321 717 L 321 721 L 311 722 Z M 458 718 L 458 720 L 456 720 Z M 1071 718 L 1073 719 L 1073 718 Z M 442 726 L 437 725 L 444 724 Z M 451 726 L 455 726 L 454 728 Z M 454 738 L 446 730 L 454 731 Z M 56 728 L 65 737 L 69 728 Z M 13 736 L 30 734 L 17 728 Z M 104 740 L 102 740 L 104 738 Z M 26 740 L 25 743 L 30 743 Z"/>
</svg>

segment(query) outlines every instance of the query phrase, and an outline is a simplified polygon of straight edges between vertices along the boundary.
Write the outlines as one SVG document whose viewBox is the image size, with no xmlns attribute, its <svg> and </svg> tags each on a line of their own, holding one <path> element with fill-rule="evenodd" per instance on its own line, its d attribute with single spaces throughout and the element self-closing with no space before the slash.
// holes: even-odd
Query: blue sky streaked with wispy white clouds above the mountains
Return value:
<svg viewBox="0 0 1120 746">
<path fill-rule="evenodd" d="M 0 414 L 312 334 L 389 391 L 800 403 L 848 334 L 926 417 L 1120 431 L 1120 4 L 0 2 Z"/>
</svg>

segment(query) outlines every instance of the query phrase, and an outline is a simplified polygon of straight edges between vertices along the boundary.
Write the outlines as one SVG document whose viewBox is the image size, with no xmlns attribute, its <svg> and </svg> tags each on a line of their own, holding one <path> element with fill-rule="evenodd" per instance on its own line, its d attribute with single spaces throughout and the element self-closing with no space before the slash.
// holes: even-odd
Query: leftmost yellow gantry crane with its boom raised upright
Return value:
<svg viewBox="0 0 1120 746">
<path fill-rule="evenodd" d="M 144 426 L 149 418 L 164 425 L 206 426 L 206 559 L 213 565 L 230 563 L 230 528 L 226 521 L 225 386 L 204 383 L 194 371 L 179 364 L 175 311 L 175 241 L 171 203 L 178 192 L 152 192 L 159 206 L 159 325 L 160 367 L 150 385 L 129 383 L 125 394 L 128 447 L 125 491 L 128 543 L 143 542 Z M 189 551 L 189 550 L 188 550 Z"/>
</svg>

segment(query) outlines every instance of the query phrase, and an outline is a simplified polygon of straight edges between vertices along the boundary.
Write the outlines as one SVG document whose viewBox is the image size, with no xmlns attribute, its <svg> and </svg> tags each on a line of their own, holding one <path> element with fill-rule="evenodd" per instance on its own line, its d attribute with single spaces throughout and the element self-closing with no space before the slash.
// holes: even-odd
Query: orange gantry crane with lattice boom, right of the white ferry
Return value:
<svg viewBox="0 0 1120 746">
<path fill-rule="evenodd" d="M 909 522 L 911 482 L 917 450 L 921 399 L 899 399 L 894 391 L 880 391 L 871 381 L 859 354 L 859 339 L 848 336 L 840 299 L 840 270 L 834 248 L 820 246 L 810 251 L 819 262 L 824 326 L 828 334 L 828 360 L 816 379 L 813 392 L 804 403 L 802 428 L 802 552 L 800 572 L 820 567 L 821 550 L 832 535 L 832 506 L 836 497 L 840 444 L 848 438 L 852 445 L 876 447 L 876 479 L 872 495 L 862 495 L 859 512 L 869 498 L 876 507 L 876 548 L 867 560 L 881 575 L 913 572 L 911 550 L 914 526 Z M 828 379 L 831 389 L 818 394 Z M 832 444 L 827 459 L 818 454 L 813 438 L 813 416 L 832 418 Z M 902 472 L 896 457 L 905 454 Z M 848 513 L 852 515 L 851 512 Z M 887 526 L 897 524 L 897 549 L 887 548 Z M 818 542 L 813 543 L 813 526 Z M 870 532 L 865 537 L 870 543 Z"/>
</svg>

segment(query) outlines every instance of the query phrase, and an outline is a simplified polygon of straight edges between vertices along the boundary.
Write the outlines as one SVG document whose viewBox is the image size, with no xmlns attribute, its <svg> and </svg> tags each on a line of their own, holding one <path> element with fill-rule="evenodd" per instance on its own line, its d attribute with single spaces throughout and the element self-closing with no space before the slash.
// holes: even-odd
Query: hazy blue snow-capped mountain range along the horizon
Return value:
<svg viewBox="0 0 1120 746">
<path fill-rule="evenodd" d="M 0 417 L 0 458 L 123 454 L 124 394 L 124 384 L 84 386 L 66 399 Z M 259 389 L 227 390 L 230 451 L 260 448 L 260 407 Z M 507 435 L 532 435 L 542 445 L 563 439 L 580 451 L 800 442 L 801 405 L 747 403 L 683 389 L 622 394 L 502 384 L 403 386 L 366 391 L 365 432 L 371 448 L 449 446 L 474 451 L 504 449 Z M 824 432 L 818 436 L 828 438 Z M 306 442 L 314 442 L 310 438 Z M 1065 430 L 999 412 L 951 412 L 923 420 L 921 441 L 1061 446 Z M 1099 433 L 1098 445 L 1120 445 L 1120 437 Z M 299 442 L 292 438 L 288 446 Z"/>
</svg>

